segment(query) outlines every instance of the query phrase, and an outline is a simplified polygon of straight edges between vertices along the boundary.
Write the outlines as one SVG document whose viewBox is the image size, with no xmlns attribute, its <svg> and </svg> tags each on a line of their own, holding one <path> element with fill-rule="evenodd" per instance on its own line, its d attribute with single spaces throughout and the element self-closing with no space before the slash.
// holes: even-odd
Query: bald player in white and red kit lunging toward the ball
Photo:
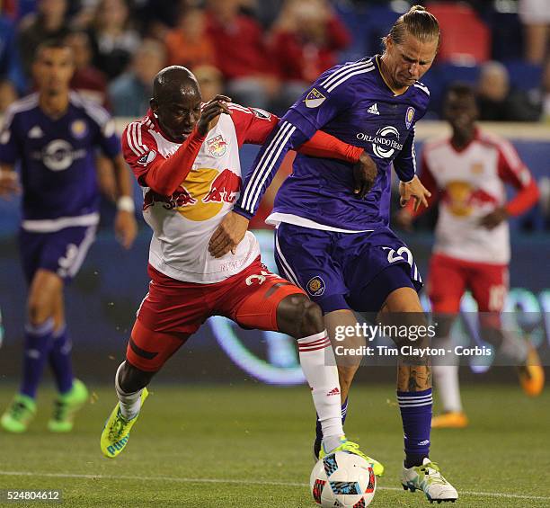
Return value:
<svg viewBox="0 0 550 508">
<path fill-rule="evenodd" d="M 144 218 L 153 229 L 152 281 L 115 376 L 120 402 L 101 439 L 108 458 L 125 448 L 155 372 L 213 315 L 296 337 L 326 449 L 361 454 L 343 435 L 338 371 L 320 308 L 268 271 L 250 232 L 233 252 L 219 258 L 208 253 L 210 236 L 240 192 L 239 147 L 262 144 L 279 120 L 229 102 L 218 95 L 202 104 L 195 76 L 185 67 L 166 67 L 155 77 L 151 110 L 122 135 L 124 156 L 143 188 Z M 363 153 L 322 132 L 299 150 L 350 162 Z"/>
</svg>

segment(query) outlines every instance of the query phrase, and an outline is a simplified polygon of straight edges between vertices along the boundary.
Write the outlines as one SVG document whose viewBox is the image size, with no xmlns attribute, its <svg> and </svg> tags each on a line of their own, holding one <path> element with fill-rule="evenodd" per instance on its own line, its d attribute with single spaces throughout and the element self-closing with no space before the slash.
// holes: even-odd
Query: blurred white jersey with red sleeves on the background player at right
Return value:
<svg viewBox="0 0 550 508">
<path fill-rule="evenodd" d="M 488 229 L 480 219 L 505 204 L 505 183 L 523 188 L 530 179 L 508 141 L 479 129 L 460 150 L 450 139 L 426 143 L 421 180 L 432 193 L 439 193 L 434 252 L 465 261 L 509 263 L 508 222 Z"/>
</svg>

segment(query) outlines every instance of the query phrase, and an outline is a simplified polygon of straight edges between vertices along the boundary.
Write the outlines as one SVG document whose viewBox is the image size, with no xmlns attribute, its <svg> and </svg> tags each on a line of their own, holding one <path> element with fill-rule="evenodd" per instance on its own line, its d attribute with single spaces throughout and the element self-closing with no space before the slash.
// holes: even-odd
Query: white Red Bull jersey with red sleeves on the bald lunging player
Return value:
<svg viewBox="0 0 550 508">
<path fill-rule="evenodd" d="M 153 229 L 149 263 L 178 281 L 223 281 L 243 271 L 260 254 L 258 241 L 250 231 L 237 245 L 235 254 L 216 259 L 208 253 L 210 237 L 233 209 L 241 190 L 239 147 L 258 133 L 265 138 L 278 121 L 265 111 L 237 105 L 231 110 L 232 116 L 220 115 L 216 127 L 208 132 L 191 172 L 172 196 L 143 187 L 143 217 Z M 148 168 L 173 156 L 180 144 L 164 136 L 149 111 L 125 129 L 122 147 L 143 186 Z"/>
</svg>

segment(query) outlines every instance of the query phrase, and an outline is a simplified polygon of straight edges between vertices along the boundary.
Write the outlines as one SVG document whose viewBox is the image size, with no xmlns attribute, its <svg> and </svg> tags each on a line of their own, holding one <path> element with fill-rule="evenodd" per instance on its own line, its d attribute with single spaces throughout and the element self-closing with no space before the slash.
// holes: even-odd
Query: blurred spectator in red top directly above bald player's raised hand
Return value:
<svg viewBox="0 0 550 508">
<path fill-rule="evenodd" d="M 279 79 L 264 43 L 262 27 L 239 11 L 240 0 L 208 0 L 208 34 L 217 67 L 235 102 L 269 109 L 279 93 Z"/>
</svg>

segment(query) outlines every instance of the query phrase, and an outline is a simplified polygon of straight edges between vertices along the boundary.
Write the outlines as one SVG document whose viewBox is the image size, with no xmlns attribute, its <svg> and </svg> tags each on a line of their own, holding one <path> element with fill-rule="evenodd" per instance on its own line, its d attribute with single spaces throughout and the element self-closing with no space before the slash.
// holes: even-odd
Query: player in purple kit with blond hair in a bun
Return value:
<svg viewBox="0 0 550 508">
<path fill-rule="evenodd" d="M 411 198 L 417 207 L 427 204 L 430 192 L 415 175 L 413 139 L 430 95 L 418 80 L 436 56 L 439 23 L 423 7 L 413 6 L 395 22 L 384 43 L 381 56 L 325 72 L 290 108 L 262 147 L 234 211 L 209 245 L 215 256 L 235 248 L 288 149 L 315 130 L 364 147 L 377 170 L 366 196 L 368 189 L 357 187 L 351 165 L 297 156 L 267 219 L 278 226 L 280 273 L 323 308 L 333 337 L 337 326 L 357 324 L 353 310 L 376 312 L 385 323 L 400 316 L 408 324 L 426 325 L 417 294 L 421 276 L 411 251 L 388 227 L 390 176 L 393 164 L 401 181 L 402 205 Z M 416 351 L 421 351 L 426 344 L 418 342 Z M 357 368 L 357 362 L 339 365 L 342 417 Z M 404 426 L 402 485 L 423 491 L 430 501 L 455 501 L 456 489 L 429 459 L 432 397 L 426 355 L 400 357 L 397 400 Z M 320 437 L 318 433 L 315 452 Z"/>
</svg>

